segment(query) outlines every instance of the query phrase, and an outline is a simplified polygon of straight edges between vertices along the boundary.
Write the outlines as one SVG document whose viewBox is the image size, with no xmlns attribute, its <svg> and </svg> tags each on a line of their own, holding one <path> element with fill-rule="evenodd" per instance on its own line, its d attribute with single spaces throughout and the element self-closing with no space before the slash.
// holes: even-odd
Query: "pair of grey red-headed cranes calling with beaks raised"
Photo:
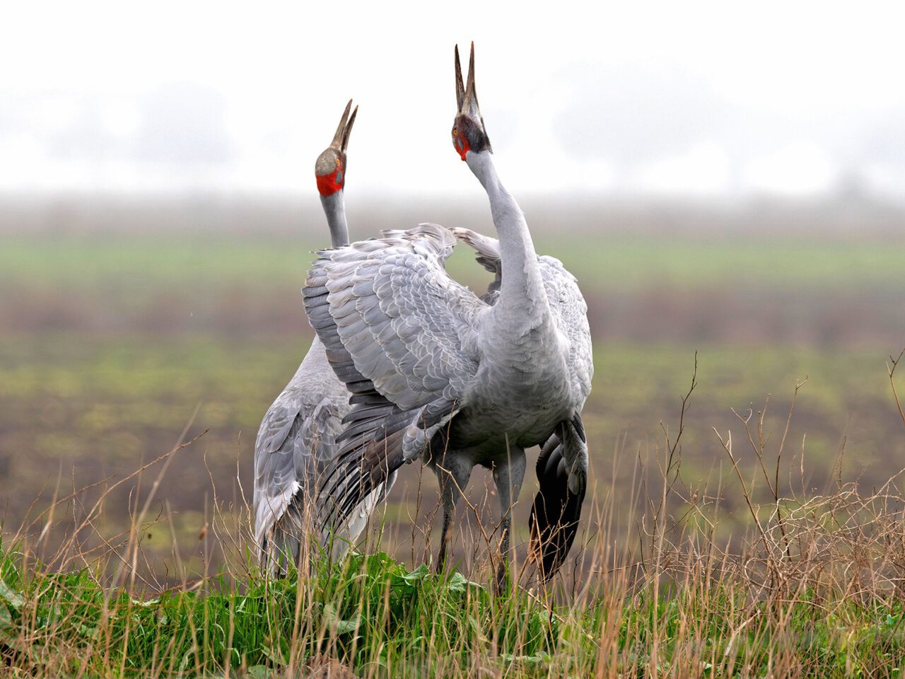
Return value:
<svg viewBox="0 0 905 679">
<path fill-rule="evenodd" d="M 423 224 L 348 244 L 349 102 L 315 167 L 332 239 L 302 290 L 317 337 L 255 443 L 255 540 L 266 563 L 298 559 L 306 527 L 324 541 L 354 540 L 397 470 L 420 458 L 440 483 L 441 569 L 456 503 L 481 465 L 500 498 L 500 591 L 510 508 L 534 445 L 529 556 L 545 578 L 575 539 L 587 477 L 581 410 L 594 371 L 586 302 L 562 263 L 535 252 L 493 165 L 473 43 L 467 83 L 456 47 L 455 80 L 452 144 L 487 192 L 499 240 Z M 457 243 L 495 274 L 481 297 L 444 269 Z"/>
</svg>

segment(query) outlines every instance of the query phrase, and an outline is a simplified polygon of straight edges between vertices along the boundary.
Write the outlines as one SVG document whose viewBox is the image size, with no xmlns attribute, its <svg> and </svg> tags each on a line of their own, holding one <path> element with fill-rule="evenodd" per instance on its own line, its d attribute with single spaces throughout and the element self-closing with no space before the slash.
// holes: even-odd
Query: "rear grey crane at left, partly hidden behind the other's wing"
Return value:
<svg viewBox="0 0 905 679">
<path fill-rule="evenodd" d="M 333 140 L 315 163 L 320 202 L 327 216 L 334 247 L 348 244 L 343 204 L 346 149 L 358 108 L 346 110 Z M 263 417 L 254 444 L 254 539 L 262 564 L 282 570 L 282 560 L 297 562 L 310 503 L 320 474 L 336 454 L 336 438 L 348 414 L 348 391 L 329 366 L 324 346 L 315 337 L 299 369 Z M 346 526 L 348 540 L 364 529 L 377 499 L 395 481 L 364 497 Z M 339 541 L 339 544 L 342 540 Z"/>
</svg>

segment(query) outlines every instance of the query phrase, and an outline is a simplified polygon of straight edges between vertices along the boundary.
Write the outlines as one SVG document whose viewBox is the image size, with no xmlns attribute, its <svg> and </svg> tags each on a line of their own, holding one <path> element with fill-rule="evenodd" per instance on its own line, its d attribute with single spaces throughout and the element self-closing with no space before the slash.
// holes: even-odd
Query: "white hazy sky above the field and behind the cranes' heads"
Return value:
<svg viewBox="0 0 905 679">
<path fill-rule="evenodd" d="M 452 45 L 517 196 L 905 197 L 900 3 L 18 3 L 0 190 L 310 193 L 349 97 L 351 195 L 480 186 Z"/>
</svg>

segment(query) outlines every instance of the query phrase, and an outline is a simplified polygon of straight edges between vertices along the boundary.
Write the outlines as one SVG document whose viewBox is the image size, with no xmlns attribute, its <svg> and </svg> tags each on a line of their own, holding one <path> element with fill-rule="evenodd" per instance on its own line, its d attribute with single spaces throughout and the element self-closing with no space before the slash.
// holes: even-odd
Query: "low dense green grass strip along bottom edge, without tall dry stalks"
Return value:
<svg viewBox="0 0 905 679">
<path fill-rule="evenodd" d="M 808 558 L 788 559 L 792 571 Z M 15 676 L 37 677 L 232 669 L 259 679 L 319 656 L 360 677 L 899 676 L 905 628 L 893 591 L 853 597 L 843 581 L 801 579 L 757 598 L 725 557 L 712 569 L 707 553 L 684 559 L 684 572 L 658 560 L 632 579 L 593 577 L 557 603 L 525 588 L 493 596 L 458 572 L 407 569 L 383 552 L 317 558 L 310 577 L 252 569 L 129 593 L 98 569 L 52 572 L 5 545 L 0 654 Z"/>
</svg>

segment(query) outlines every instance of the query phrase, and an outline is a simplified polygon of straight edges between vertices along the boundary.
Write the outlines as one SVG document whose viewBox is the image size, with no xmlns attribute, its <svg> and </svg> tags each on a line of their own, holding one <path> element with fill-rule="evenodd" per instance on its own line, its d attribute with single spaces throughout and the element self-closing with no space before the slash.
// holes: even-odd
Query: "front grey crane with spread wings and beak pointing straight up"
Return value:
<svg viewBox="0 0 905 679">
<path fill-rule="evenodd" d="M 500 498 L 500 591 L 526 448 L 545 444 L 532 545 L 552 567 L 545 575 L 574 538 L 574 526 L 562 531 L 552 522 L 576 521 L 586 489 L 580 414 L 591 387 L 591 338 L 575 279 L 538 257 L 497 175 L 474 87 L 473 44 L 467 88 L 458 47 L 455 67 L 452 142 L 487 192 L 500 240 L 487 239 L 485 250 L 505 275 L 487 301 L 478 298 L 445 272 L 456 236 L 430 224 L 319 253 L 302 291 L 305 308 L 353 404 L 321 485 L 319 523 L 329 531 L 345 521 L 402 464 L 423 457 L 440 482 L 441 569 L 462 489 L 475 465 L 489 467 Z"/>
</svg>

